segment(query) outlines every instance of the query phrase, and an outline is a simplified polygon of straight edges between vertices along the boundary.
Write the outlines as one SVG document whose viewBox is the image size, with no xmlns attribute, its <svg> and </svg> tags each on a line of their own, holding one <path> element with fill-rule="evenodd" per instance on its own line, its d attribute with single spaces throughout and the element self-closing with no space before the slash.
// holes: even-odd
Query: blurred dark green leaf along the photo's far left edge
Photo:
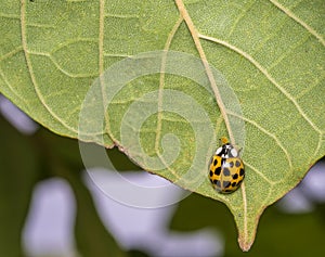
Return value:
<svg viewBox="0 0 325 257">
<path fill-rule="evenodd" d="M 40 167 L 30 140 L 0 115 L 0 254 L 25 256 L 21 235 Z"/>
</svg>

